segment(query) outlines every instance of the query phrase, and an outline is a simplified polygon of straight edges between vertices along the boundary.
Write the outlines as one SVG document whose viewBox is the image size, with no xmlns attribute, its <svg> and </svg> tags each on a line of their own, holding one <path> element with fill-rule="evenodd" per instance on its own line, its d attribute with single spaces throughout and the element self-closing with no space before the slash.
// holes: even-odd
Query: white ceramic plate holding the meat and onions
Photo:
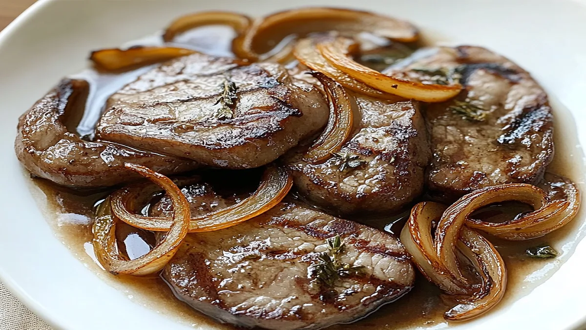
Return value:
<svg viewBox="0 0 586 330">
<path fill-rule="evenodd" d="M 39 1 L 0 33 L 0 277 L 23 303 L 56 329 L 208 328 L 178 324 L 132 302 L 54 238 L 14 156 L 16 121 L 62 76 L 83 69 L 92 49 L 138 39 L 189 12 L 228 9 L 259 16 L 292 5 L 381 12 L 414 22 L 435 39 L 482 45 L 508 56 L 532 72 L 557 100 L 557 134 L 577 137 L 565 140 L 570 143 L 563 146 L 568 150 L 564 161 L 577 167 L 573 179 L 586 191 L 581 179 L 584 156 L 577 146 L 586 145 L 584 1 Z M 584 215 L 575 221 L 582 223 Z M 582 225 L 575 228 L 561 247 L 569 260 L 544 284 L 456 328 L 583 329 L 586 241 L 572 245 L 584 234 Z"/>
</svg>

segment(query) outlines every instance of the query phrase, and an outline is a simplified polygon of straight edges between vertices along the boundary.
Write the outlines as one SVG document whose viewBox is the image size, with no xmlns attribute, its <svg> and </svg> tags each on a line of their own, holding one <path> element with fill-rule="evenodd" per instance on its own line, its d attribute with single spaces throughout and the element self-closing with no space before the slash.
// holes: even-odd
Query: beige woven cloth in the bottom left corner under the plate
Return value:
<svg viewBox="0 0 586 330">
<path fill-rule="evenodd" d="M 0 330 L 52 330 L 0 282 Z"/>
</svg>

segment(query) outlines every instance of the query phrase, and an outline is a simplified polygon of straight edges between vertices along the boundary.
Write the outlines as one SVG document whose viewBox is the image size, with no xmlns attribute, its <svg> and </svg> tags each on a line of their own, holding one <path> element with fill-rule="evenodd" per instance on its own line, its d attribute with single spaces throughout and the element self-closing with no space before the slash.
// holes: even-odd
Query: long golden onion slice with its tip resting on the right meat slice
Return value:
<svg viewBox="0 0 586 330">
<path fill-rule="evenodd" d="M 318 51 L 323 58 L 336 69 L 346 73 L 360 82 L 406 99 L 420 100 L 423 102 L 443 102 L 458 95 L 462 85 L 435 85 L 413 82 L 410 80 L 393 78 L 383 75 L 351 59 L 349 56 L 355 48 L 353 39 L 339 36 L 335 39 L 323 39 L 317 44 Z"/>
</svg>

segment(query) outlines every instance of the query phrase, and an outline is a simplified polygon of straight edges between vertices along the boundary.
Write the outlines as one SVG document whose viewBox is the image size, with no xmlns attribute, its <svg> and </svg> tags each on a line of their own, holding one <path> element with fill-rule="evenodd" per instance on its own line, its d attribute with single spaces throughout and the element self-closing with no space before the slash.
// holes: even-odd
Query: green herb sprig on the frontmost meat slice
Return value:
<svg viewBox="0 0 586 330">
<path fill-rule="evenodd" d="M 318 263 L 311 266 L 309 287 L 314 293 L 319 292 L 322 285 L 333 287 L 340 277 L 362 274 L 364 266 L 350 266 L 340 261 L 345 244 L 340 235 L 335 235 L 326 240 L 328 252 L 322 252 L 318 256 Z"/>
</svg>

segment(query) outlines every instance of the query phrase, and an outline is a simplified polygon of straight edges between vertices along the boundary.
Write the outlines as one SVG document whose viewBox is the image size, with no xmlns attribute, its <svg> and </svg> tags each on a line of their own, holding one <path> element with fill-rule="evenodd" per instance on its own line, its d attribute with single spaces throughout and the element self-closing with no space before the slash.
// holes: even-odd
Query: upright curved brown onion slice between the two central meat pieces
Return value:
<svg viewBox="0 0 586 330">
<path fill-rule="evenodd" d="M 351 96 L 340 86 L 323 73 L 314 72 L 312 75 L 322 83 L 328 96 L 330 115 L 325 130 L 315 143 L 304 154 L 304 160 L 309 163 L 318 163 L 329 159 L 332 153 L 342 148 L 350 137 L 353 126 L 353 111 Z"/>
</svg>

